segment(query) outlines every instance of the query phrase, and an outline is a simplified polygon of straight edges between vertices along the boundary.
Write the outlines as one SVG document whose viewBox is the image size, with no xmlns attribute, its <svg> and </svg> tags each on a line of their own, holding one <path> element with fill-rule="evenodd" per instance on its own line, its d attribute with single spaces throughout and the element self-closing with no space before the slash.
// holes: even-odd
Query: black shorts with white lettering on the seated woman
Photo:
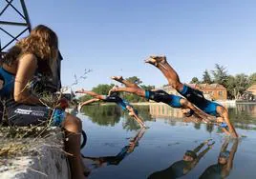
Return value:
<svg viewBox="0 0 256 179">
<path fill-rule="evenodd" d="M 43 125 L 53 112 L 44 106 L 24 105 L 14 101 L 7 103 L 6 111 L 10 125 L 14 126 Z"/>
</svg>

